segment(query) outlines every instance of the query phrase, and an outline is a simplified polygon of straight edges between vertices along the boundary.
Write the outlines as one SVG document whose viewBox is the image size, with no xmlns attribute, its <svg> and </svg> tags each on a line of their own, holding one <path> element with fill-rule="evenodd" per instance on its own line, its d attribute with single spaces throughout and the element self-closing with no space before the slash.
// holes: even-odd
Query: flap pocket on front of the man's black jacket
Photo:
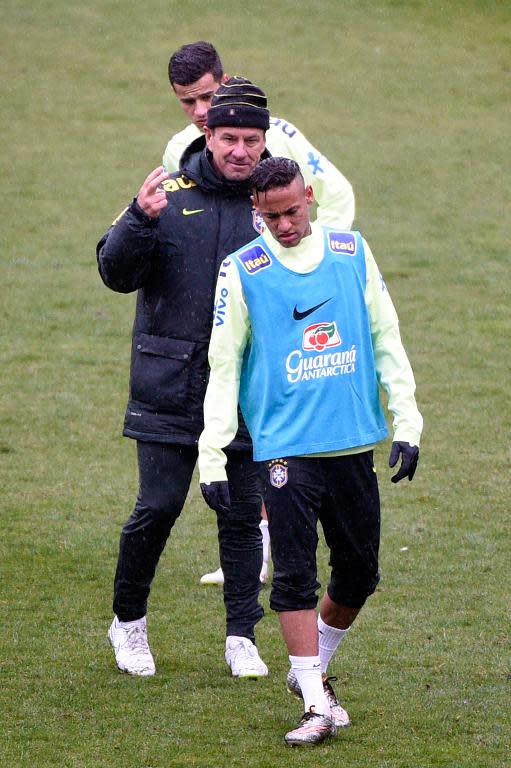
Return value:
<svg viewBox="0 0 511 768">
<path fill-rule="evenodd" d="M 186 411 L 195 346 L 193 341 L 137 333 L 131 397 L 155 409 Z"/>
</svg>

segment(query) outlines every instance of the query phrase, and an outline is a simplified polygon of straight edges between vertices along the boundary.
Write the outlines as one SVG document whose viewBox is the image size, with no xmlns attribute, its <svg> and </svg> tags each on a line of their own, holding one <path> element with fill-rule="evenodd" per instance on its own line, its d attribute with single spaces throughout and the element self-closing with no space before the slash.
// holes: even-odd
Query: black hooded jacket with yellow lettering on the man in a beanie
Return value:
<svg viewBox="0 0 511 768">
<path fill-rule="evenodd" d="M 203 428 L 218 270 L 259 231 L 248 184 L 219 177 L 207 150 L 192 144 L 164 186 L 168 204 L 158 219 L 134 200 L 101 238 L 98 268 L 112 290 L 138 291 L 124 434 L 194 445 Z M 250 445 L 240 419 L 231 448 Z"/>
</svg>

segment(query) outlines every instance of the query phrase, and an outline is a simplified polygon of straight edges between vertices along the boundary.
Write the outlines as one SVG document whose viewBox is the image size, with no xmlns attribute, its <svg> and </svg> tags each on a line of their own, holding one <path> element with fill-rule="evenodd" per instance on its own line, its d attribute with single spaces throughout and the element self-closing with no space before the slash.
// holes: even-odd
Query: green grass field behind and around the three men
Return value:
<svg viewBox="0 0 511 768">
<path fill-rule="evenodd" d="M 2 3 L 0 765 L 504 768 L 509 764 L 509 126 L 503 2 Z M 158 674 L 106 641 L 136 494 L 120 436 L 134 297 L 94 249 L 183 126 L 170 53 L 211 39 L 352 181 L 425 419 L 384 509 L 382 581 L 333 672 L 353 727 L 285 748 L 300 715 L 268 609 L 268 679 L 223 661 L 213 516 L 197 486 L 162 558 Z M 324 550 L 321 573 L 326 577 Z"/>
</svg>

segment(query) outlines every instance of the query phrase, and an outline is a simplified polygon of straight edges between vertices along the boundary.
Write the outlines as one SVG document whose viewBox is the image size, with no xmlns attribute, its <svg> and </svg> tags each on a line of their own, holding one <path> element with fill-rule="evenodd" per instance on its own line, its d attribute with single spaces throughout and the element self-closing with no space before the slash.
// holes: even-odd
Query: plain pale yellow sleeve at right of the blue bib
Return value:
<svg viewBox="0 0 511 768">
<path fill-rule="evenodd" d="M 408 360 L 394 304 L 371 249 L 364 240 L 366 258 L 366 304 L 378 382 L 387 394 L 393 416 L 393 440 L 419 445 L 422 416 L 415 402 L 415 379 Z"/>
</svg>

